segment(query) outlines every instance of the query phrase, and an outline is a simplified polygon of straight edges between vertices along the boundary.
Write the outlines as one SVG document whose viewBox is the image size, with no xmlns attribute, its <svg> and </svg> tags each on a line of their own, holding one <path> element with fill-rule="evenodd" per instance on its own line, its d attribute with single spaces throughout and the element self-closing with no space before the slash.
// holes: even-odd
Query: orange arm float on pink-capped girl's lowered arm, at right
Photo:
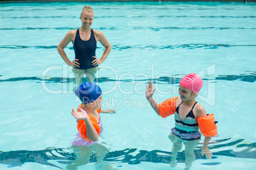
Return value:
<svg viewBox="0 0 256 170">
<path fill-rule="evenodd" d="M 213 114 L 208 114 L 206 117 L 197 117 L 197 122 L 203 136 L 217 136 L 218 132 L 216 124 L 218 121 L 215 121 Z"/>
</svg>

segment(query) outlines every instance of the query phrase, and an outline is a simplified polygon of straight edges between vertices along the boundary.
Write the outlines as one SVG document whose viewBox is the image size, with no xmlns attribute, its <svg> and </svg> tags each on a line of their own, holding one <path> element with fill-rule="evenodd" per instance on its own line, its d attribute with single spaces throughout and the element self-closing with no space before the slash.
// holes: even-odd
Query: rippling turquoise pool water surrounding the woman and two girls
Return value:
<svg viewBox="0 0 256 170">
<path fill-rule="evenodd" d="M 145 99 L 178 96 L 178 82 L 195 72 L 197 97 L 218 121 L 213 159 L 199 144 L 191 169 L 254 169 L 256 4 L 87 3 L 92 29 L 112 50 L 96 78 L 103 89 L 103 136 L 91 148 L 74 147 L 73 72 L 57 52 L 69 30 L 81 26 L 85 3 L 1 3 L 0 169 L 170 169 L 167 136 L 174 117 L 160 118 Z M 96 56 L 104 48 L 97 44 Z M 74 58 L 70 43 L 65 51 Z M 201 143 L 203 142 L 203 138 Z M 184 147 L 173 169 L 183 169 Z"/>
</svg>

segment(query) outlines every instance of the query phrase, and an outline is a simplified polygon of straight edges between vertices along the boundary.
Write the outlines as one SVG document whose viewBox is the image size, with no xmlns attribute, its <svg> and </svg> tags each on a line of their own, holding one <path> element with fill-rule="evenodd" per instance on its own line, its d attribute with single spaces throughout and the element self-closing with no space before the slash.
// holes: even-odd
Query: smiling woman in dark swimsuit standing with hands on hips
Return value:
<svg viewBox="0 0 256 170">
<path fill-rule="evenodd" d="M 94 21 L 94 11 L 90 6 L 85 6 L 81 12 L 80 20 L 82 20 L 82 27 L 77 30 L 71 30 L 66 34 L 64 39 L 60 41 L 57 50 L 63 60 L 69 65 L 73 66 L 73 72 L 75 73 L 76 90 L 80 84 L 82 84 L 83 74 L 86 75 L 88 82 L 92 82 L 95 79 L 95 74 L 99 70 L 98 65 L 106 60 L 106 57 L 110 54 L 111 45 L 108 39 L 99 30 L 92 30 L 90 25 Z M 71 62 L 66 55 L 64 48 L 68 46 L 72 41 L 75 50 L 75 60 Z M 96 58 L 97 41 L 106 48 L 104 50 L 101 59 Z"/>
</svg>

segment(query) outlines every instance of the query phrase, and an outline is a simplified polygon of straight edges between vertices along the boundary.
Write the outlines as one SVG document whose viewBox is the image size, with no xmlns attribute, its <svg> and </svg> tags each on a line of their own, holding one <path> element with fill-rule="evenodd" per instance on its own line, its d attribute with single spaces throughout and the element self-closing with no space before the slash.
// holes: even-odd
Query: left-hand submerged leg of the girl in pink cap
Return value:
<svg viewBox="0 0 256 170">
<path fill-rule="evenodd" d="M 170 165 L 172 167 L 174 167 L 174 166 L 176 166 L 176 162 L 177 162 L 177 160 L 176 160 L 177 154 L 182 148 L 182 142 L 173 133 L 171 133 L 168 137 L 169 137 L 169 140 L 171 140 L 173 142 L 173 148 L 171 149 Z"/>
</svg>

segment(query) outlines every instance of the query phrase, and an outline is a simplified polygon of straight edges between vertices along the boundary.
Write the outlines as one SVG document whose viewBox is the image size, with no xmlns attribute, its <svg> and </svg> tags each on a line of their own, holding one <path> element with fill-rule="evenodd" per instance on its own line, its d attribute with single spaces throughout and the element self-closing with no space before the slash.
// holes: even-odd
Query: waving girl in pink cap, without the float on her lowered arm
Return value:
<svg viewBox="0 0 256 170">
<path fill-rule="evenodd" d="M 181 150 L 182 143 L 185 145 L 185 169 L 190 169 L 192 162 L 196 158 L 194 149 L 201 139 L 197 118 L 207 116 L 204 107 L 196 101 L 197 93 L 199 93 L 202 86 L 203 81 L 199 75 L 194 73 L 185 75 L 179 85 L 180 98 L 174 97 L 160 104 L 156 103 L 152 98 L 155 91 L 152 81 L 146 86 L 146 99 L 155 112 L 162 117 L 174 114 L 175 128 L 171 129 L 171 134 L 168 136 L 169 140 L 173 142 L 170 163 L 172 167 L 176 166 L 176 155 Z M 171 106 L 172 104 L 173 106 Z M 166 112 L 170 112 L 171 108 L 173 113 L 166 114 Z M 206 155 L 207 159 L 211 159 L 212 155 L 208 148 L 210 140 L 211 137 L 206 136 L 202 147 L 202 155 Z"/>
</svg>

